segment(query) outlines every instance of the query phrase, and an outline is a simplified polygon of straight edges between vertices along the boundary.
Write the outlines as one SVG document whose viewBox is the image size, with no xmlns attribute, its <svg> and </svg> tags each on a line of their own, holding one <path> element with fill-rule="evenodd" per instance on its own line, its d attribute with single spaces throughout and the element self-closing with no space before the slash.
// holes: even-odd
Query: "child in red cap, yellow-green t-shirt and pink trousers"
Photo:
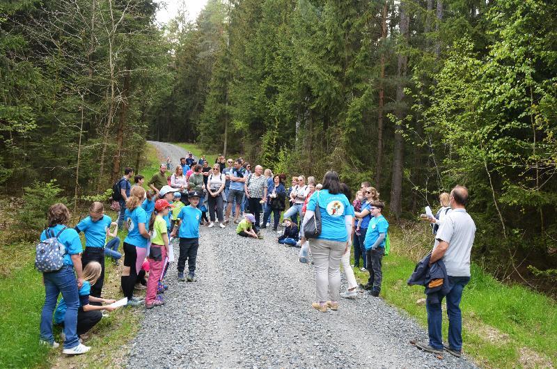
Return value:
<svg viewBox="0 0 557 369">
<path fill-rule="evenodd" d="M 146 308 L 154 308 L 164 304 L 162 299 L 157 299 L 157 286 L 162 276 L 166 255 L 168 254 L 168 228 L 164 216 L 168 215 L 170 208 L 164 199 L 159 199 L 155 203 L 155 212 L 152 213 L 149 221 L 149 228 L 152 230 L 151 247 L 149 250 L 149 279 L 147 280 L 147 294 L 145 298 Z"/>
</svg>

